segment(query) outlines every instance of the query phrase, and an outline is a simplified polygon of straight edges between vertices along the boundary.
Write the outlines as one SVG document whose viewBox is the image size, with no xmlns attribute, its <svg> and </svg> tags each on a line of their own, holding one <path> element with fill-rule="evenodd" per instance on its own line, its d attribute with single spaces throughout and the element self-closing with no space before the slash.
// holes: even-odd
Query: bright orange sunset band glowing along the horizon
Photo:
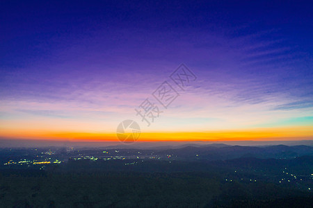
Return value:
<svg viewBox="0 0 313 208">
<path fill-rule="evenodd" d="M 118 141 L 115 132 L 5 131 L 1 137 L 70 141 Z M 312 126 L 294 128 L 255 128 L 207 132 L 141 132 L 138 141 L 274 141 L 313 139 Z"/>
</svg>

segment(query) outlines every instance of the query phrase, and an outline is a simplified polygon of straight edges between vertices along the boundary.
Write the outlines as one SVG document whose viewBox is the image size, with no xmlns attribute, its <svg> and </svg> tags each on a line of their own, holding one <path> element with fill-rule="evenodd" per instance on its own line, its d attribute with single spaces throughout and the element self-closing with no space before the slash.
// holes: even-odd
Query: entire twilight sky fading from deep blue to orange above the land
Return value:
<svg viewBox="0 0 313 208">
<path fill-rule="evenodd" d="M 0 137 L 118 141 L 130 119 L 138 141 L 312 139 L 312 6 L 1 1 Z M 149 126 L 145 101 L 161 112 Z"/>
</svg>

